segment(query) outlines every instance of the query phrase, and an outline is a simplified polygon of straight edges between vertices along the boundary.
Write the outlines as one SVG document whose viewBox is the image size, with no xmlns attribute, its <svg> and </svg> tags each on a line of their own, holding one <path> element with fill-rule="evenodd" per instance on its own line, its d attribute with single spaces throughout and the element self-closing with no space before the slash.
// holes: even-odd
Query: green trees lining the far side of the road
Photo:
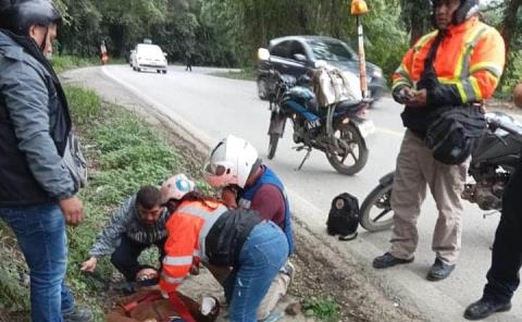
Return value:
<svg viewBox="0 0 522 322">
<path fill-rule="evenodd" d="M 183 62 L 192 53 L 195 65 L 251 69 L 259 47 L 286 35 L 324 35 L 357 48 L 351 0 L 54 0 L 66 16 L 60 32 L 62 54 L 98 57 L 105 40 L 109 55 L 127 57 L 144 38 L 150 38 Z M 363 17 L 366 55 L 388 77 L 410 42 L 432 28 L 430 0 L 371 0 Z M 509 50 L 500 89 L 509 91 L 522 67 L 522 3 L 490 0 L 485 20 L 505 36 Z M 517 78 L 519 77 L 519 78 Z"/>
</svg>

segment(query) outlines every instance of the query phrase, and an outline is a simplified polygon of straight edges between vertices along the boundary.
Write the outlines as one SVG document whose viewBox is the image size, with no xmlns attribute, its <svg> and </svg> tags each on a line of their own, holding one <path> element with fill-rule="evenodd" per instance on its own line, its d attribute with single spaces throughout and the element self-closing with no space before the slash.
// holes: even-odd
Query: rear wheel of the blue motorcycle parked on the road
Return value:
<svg viewBox="0 0 522 322">
<path fill-rule="evenodd" d="M 361 171 L 366 165 L 369 151 L 360 132 L 353 124 L 347 124 L 336 128 L 335 136 L 347 150 L 339 153 L 339 150 L 328 148 L 326 158 L 330 164 L 340 174 L 353 175 Z M 352 162 L 345 163 L 347 161 Z"/>
</svg>

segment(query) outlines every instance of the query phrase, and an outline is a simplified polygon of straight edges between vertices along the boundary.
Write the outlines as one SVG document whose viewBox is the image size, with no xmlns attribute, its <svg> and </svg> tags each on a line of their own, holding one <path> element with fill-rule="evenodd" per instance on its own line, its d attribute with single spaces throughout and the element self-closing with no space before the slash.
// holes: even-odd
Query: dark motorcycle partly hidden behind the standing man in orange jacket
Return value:
<svg viewBox="0 0 522 322">
<path fill-rule="evenodd" d="M 498 212 L 510 175 L 520 162 L 522 124 L 506 113 L 486 113 L 487 131 L 477 141 L 468 171 L 462 199 L 476 203 L 484 211 Z M 388 230 L 393 225 L 390 206 L 394 172 L 383 176 L 366 196 L 360 209 L 360 224 L 369 232 Z"/>
</svg>

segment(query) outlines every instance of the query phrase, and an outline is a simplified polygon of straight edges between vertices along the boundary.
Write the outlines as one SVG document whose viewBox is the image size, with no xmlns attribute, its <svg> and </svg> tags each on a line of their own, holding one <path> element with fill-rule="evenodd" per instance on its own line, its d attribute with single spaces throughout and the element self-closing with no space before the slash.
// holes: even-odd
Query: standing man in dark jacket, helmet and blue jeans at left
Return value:
<svg viewBox="0 0 522 322">
<path fill-rule="evenodd" d="M 83 220 L 78 184 L 63 156 L 71 133 L 65 95 L 46 59 L 61 16 L 47 0 L 0 0 L 0 219 L 30 271 L 32 320 L 91 321 L 64 284 L 65 223 Z"/>
</svg>

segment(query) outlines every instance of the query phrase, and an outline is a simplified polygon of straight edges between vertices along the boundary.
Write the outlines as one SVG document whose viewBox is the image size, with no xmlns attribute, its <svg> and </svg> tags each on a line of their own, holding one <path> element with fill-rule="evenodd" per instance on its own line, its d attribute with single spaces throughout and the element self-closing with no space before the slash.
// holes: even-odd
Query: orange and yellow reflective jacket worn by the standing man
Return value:
<svg viewBox="0 0 522 322">
<path fill-rule="evenodd" d="M 393 75 L 393 89 L 417 88 L 424 71 L 424 61 L 439 32 L 425 35 L 405 55 Z M 471 17 L 446 30 L 433 66 L 439 88 L 427 92 L 428 104 L 467 104 L 493 96 L 502 74 L 506 48 L 500 34 Z"/>
</svg>

